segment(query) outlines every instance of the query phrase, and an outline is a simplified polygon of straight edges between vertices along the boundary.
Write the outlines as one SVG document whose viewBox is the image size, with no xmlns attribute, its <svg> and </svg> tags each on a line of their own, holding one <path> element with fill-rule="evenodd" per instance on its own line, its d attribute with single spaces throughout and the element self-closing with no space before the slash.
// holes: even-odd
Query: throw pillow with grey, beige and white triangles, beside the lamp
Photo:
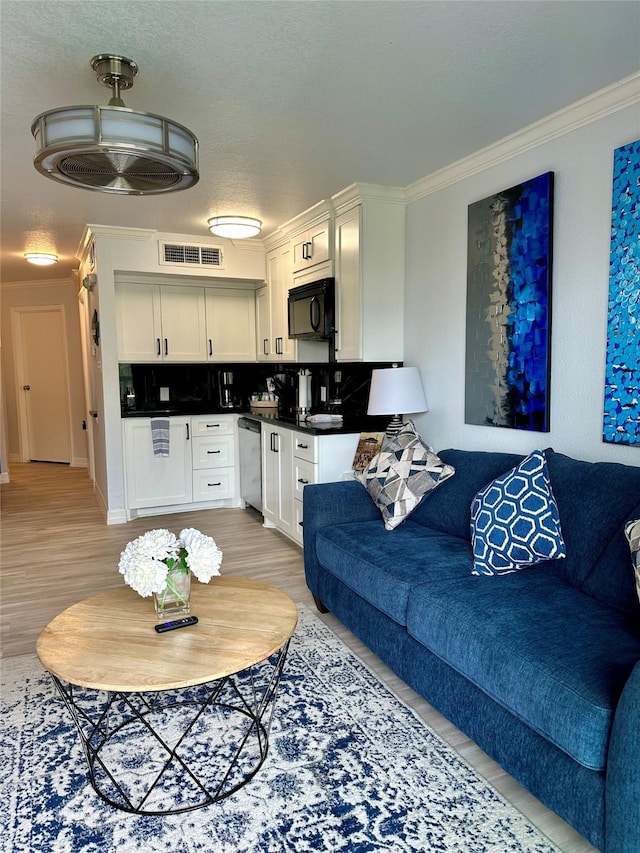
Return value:
<svg viewBox="0 0 640 853">
<path fill-rule="evenodd" d="M 359 480 L 393 530 L 413 512 L 423 497 L 455 473 L 428 448 L 409 421 L 371 460 Z"/>
</svg>

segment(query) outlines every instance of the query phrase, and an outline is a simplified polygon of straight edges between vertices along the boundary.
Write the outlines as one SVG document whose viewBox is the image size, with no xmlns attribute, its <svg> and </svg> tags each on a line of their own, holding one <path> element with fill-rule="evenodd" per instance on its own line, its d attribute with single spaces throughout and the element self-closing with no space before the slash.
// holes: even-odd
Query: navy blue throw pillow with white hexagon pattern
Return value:
<svg viewBox="0 0 640 853">
<path fill-rule="evenodd" d="M 542 450 L 489 483 L 471 504 L 474 575 L 501 575 L 566 556 Z"/>
</svg>

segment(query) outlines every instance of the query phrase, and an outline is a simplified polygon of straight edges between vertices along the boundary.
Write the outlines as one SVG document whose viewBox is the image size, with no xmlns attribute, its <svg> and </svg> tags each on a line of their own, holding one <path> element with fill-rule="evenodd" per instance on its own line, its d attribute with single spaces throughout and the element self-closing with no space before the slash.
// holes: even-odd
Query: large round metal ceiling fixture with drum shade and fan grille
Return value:
<svg viewBox="0 0 640 853">
<path fill-rule="evenodd" d="M 124 195 L 174 192 L 198 182 L 198 140 L 177 122 L 131 110 L 120 92 L 133 86 L 132 59 L 101 53 L 91 60 L 113 91 L 108 106 L 61 107 L 31 125 L 36 169 L 74 187 Z"/>
</svg>

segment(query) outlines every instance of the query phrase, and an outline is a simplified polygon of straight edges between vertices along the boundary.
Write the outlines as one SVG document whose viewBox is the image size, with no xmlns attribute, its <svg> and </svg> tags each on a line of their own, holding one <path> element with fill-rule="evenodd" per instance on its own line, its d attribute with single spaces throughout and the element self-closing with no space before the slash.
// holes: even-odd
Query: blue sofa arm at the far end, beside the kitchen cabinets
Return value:
<svg viewBox="0 0 640 853">
<path fill-rule="evenodd" d="M 380 511 L 369 493 L 357 480 L 338 483 L 315 483 L 304 487 L 304 523 L 302 536 L 304 546 L 304 571 L 307 586 L 319 597 L 318 575 L 320 563 L 316 556 L 316 536 L 323 527 L 348 524 L 354 521 L 378 520 L 382 524 Z"/>
</svg>

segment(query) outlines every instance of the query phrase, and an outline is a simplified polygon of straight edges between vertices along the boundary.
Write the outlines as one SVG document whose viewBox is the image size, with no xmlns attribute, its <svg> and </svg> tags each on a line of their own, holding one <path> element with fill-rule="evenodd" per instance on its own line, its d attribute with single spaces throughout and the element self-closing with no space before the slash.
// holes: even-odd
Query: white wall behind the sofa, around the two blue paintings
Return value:
<svg viewBox="0 0 640 853">
<path fill-rule="evenodd" d="M 640 465 L 640 446 L 602 441 L 613 152 L 640 137 L 639 118 L 637 104 L 626 107 L 409 204 L 405 364 L 421 369 L 430 411 L 414 421 L 434 448 L 553 447 Z M 466 425 L 467 207 L 547 171 L 555 173 L 551 431 Z"/>
</svg>

